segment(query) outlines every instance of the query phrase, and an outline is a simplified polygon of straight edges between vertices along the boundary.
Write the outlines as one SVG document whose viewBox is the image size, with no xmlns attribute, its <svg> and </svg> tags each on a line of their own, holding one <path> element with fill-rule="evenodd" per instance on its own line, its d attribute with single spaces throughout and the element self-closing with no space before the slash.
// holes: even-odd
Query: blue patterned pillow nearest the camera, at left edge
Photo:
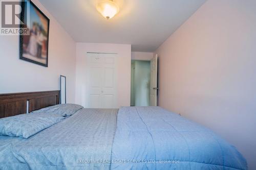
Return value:
<svg viewBox="0 0 256 170">
<path fill-rule="evenodd" d="M 0 135 L 29 138 L 60 122 L 65 117 L 45 113 L 20 114 L 0 119 Z"/>
</svg>

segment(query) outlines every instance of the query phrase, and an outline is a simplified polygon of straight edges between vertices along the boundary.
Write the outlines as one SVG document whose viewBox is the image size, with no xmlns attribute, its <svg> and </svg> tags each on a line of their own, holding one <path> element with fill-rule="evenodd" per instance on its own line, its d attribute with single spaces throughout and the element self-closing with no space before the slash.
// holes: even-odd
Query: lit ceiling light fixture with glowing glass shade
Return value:
<svg viewBox="0 0 256 170">
<path fill-rule="evenodd" d="M 99 2 L 97 10 L 104 18 L 110 19 L 119 12 L 119 7 L 113 0 L 105 0 Z"/>
</svg>

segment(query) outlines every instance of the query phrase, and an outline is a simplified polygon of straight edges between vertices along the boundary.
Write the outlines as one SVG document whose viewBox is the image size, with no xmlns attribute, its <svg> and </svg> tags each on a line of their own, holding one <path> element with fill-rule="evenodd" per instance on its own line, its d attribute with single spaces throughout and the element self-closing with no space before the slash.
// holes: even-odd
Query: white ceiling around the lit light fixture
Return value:
<svg viewBox="0 0 256 170">
<path fill-rule="evenodd" d="M 76 42 L 132 44 L 153 52 L 206 0 L 114 0 L 120 12 L 106 20 L 100 0 L 39 0 Z"/>
</svg>

